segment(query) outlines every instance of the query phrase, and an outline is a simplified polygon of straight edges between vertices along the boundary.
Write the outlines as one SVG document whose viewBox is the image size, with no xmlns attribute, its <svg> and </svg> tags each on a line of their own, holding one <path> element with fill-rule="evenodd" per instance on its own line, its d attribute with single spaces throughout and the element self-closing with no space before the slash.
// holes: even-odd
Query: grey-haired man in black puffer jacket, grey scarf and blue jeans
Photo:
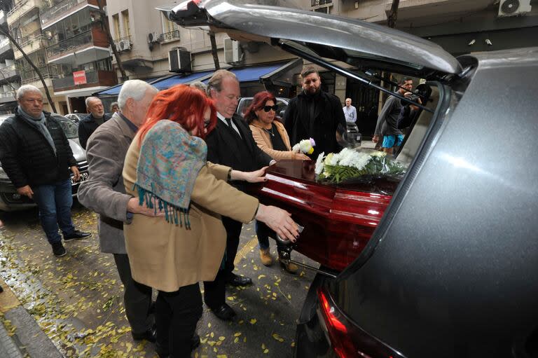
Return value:
<svg viewBox="0 0 538 358">
<path fill-rule="evenodd" d="M 17 90 L 18 108 L 0 126 L 0 162 L 20 195 L 39 207 L 41 227 L 55 256 L 64 256 L 64 240 L 89 237 L 75 230 L 71 220 L 70 172 L 78 181 L 76 160 L 58 121 L 43 111 L 43 95 L 33 85 Z"/>
</svg>

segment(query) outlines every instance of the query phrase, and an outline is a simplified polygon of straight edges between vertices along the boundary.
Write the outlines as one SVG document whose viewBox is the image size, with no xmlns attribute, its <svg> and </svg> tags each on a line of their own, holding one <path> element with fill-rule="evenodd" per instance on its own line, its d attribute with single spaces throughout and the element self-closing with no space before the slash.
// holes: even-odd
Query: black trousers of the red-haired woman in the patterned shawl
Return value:
<svg viewBox="0 0 538 358">
<path fill-rule="evenodd" d="M 159 291 L 155 303 L 157 345 L 170 357 L 191 357 L 191 338 L 202 317 L 202 295 L 198 283 L 175 292 Z"/>
</svg>

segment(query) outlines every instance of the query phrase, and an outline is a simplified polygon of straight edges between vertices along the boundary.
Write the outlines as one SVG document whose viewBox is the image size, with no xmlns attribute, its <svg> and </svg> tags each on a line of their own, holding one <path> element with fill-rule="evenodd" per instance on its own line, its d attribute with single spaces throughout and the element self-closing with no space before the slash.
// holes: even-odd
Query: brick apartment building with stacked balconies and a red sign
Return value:
<svg viewBox="0 0 538 358">
<path fill-rule="evenodd" d="M 106 1 L 101 0 L 102 6 Z M 52 80 L 63 97 L 61 113 L 86 111 L 85 98 L 118 83 L 113 71 L 106 15 L 97 0 L 48 0 L 40 13 L 46 60 L 59 69 Z"/>
</svg>

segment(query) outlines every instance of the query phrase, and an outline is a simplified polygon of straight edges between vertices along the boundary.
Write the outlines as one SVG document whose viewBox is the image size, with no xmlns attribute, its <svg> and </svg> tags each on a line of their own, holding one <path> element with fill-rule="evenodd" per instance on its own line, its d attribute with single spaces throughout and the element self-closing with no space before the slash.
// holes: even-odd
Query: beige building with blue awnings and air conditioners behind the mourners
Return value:
<svg viewBox="0 0 538 358">
<path fill-rule="evenodd" d="M 127 76 L 141 78 L 146 81 L 170 76 L 163 81 L 153 83 L 158 88 L 165 88 L 176 83 L 191 83 L 209 78 L 214 71 L 214 60 L 211 53 L 211 42 L 207 31 L 201 29 L 184 29 L 167 20 L 156 8 L 169 6 L 173 1 L 155 0 L 117 0 L 109 1 L 106 13 L 109 18 L 111 34 Z M 172 4 L 173 5 L 173 4 Z M 224 34 L 216 34 L 219 66 L 237 70 L 241 75 L 243 95 L 252 95 L 268 86 L 275 92 L 289 93 L 291 82 L 297 81 L 291 73 L 301 71 L 302 62 L 294 62 L 296 58 L 281 50 L 275 50 L 262 43 L 232 43 Z M 224 43 L 227 43 L 225 51 Z M 182 61 L 170 71 L 174 54 L 188 58 L 188 64 Z M 187 56 L 187 57 L 185 57 Z M 176 56 L 177 57 L 177 56 Z M 116 65 L 116 60 L 113 59 Z M 246 76 L 240 69 L 249 68 L 249 74 L 265 76 L 268 81 L 260 82 L 260 76 Z M 290 70 L 294 68 L 293 70 Z M 258 71 L 256 71 L 258 69 Z M 118 77 L 120 74 L 118 72 Z M 99 93 L 99 97 L 117 96 L 119 87 Z"/>
</svg>

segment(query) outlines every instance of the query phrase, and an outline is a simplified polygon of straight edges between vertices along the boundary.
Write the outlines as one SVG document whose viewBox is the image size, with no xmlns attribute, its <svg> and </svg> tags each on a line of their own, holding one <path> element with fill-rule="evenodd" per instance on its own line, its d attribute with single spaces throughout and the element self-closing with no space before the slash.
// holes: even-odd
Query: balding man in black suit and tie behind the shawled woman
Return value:
<svg viewBox="0 0 538 358">
<path fill-rule="evenodd" d="M 252 172 L 273 160 L 258 148 L 252 132 L 235 114 L 240 97 L 239 81 L 230 71 L 216 71 L 207 83 L 207 95 L 214 99 L 216 115 L 219 117 L 216 128 L 207 135 L 207 160 L 212 163 L 227 165 L 235 170 Z M 235 188 L 243 191 L 244 182 L 231 182 Z M 204 283 L 205 304 L 220 319 L 230 320 L 235 316 L 233 309 L 225 302 L 225 284 L 245 286 L 251 284 L 249 277 L 233 273 L 233 261 L 239 246 L 242 223 L 223 216 L 222 223 L 226 228 L 226 263 L 223 270 L 217 274 L 214 282 Z"/>
</svg>

